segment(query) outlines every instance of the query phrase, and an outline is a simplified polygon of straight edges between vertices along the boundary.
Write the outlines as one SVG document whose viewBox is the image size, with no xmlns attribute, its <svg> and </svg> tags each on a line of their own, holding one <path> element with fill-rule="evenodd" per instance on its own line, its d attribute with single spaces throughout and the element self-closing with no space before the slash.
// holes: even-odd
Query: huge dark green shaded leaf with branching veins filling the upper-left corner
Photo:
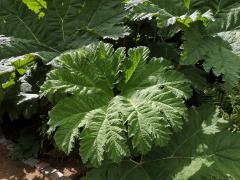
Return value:
<svg viewBox="0 0 240 180">
<path fill-rule="evenodd" d="M 53 0 L 47 3 L 46 15 L 39 19 L 21 0 L 1 1 L 0 34 L 22 41 L 32 40 L 49 51 L 77 48 L 98 38 L 118 39 L 129 34 L 129 29 L 122 24 L 125 11 L 120 1 Z"/>
</svg>

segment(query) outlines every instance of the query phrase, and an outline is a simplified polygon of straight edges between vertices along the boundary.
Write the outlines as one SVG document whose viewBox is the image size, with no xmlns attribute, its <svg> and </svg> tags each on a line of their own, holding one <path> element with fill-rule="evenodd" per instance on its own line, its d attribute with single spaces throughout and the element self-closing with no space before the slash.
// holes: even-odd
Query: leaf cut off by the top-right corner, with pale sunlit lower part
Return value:
<svg viewBox="0 0 240 180">
<path fill-rule="evenodd" d="M 192 8 L 211 8 L 215 12 L 215 21 L 209 24 L 208 31 L 230 43 L 235 54 L 239 55 L 239 26 L 240 3 L 237 0 L 229 1 L 196 1 Z"/>
</svg>

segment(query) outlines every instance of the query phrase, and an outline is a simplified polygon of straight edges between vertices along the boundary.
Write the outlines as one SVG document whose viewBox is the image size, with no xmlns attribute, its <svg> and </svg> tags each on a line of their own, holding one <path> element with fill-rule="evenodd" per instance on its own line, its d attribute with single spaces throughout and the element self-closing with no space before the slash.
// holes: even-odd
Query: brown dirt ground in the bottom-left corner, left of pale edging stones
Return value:
<svg viewBox="0 0 240 180">
<path fill-rule="evenodd" d="M 7 149 L 0 145 L 0 180 L 48 180 L 38 170 L 9 159 L 7 154 Z"/>
</svg>

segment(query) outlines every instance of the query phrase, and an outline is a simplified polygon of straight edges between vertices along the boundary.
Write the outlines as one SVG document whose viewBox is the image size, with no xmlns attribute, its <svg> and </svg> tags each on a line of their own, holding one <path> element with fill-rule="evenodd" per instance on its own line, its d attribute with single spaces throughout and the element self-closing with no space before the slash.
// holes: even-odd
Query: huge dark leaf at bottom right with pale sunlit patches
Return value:
<svg viewBox="0 0 240 180">
<path fill-rule="evenodd" d="M 156 148 L 141 162 L 107 164 L 86 179 L 237 179 L 240 174 L 239 134 L 222 132 L 226 122 L 211 105 L 191 108 L 188 122 L 165 148 Z"/>
</svg>

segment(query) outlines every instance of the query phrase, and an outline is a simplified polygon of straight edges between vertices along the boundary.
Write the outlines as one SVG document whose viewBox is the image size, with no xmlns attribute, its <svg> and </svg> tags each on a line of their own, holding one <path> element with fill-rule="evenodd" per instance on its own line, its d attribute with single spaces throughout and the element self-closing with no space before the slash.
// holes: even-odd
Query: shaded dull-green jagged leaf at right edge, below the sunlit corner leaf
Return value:
<svg viewBox="0 0 240 180">
<path fill-rule="evenodd" d="M 197 28 L 186 31 L 183 40 L 183 64 L 204 60 L 206 71 L 213 69 L 216 75 L 223 74 L 225 87 L 228 90 L 234 87 L 240 78 L 240 57 L 232 52 L 228 43 Z"/>
</svg>

